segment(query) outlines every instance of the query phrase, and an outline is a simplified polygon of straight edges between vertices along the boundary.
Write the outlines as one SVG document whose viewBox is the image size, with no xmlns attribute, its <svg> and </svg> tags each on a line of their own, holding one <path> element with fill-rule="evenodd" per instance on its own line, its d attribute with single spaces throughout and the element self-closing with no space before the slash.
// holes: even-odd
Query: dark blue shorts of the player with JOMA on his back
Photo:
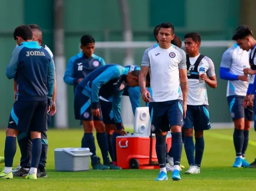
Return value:
<svg viewBox="0 0 256 191">
<path fill-rule="evenodd" d="M 47 101 L 15 101 L 8 128 L 19 132 L 47 131 Z"/>
</svg>

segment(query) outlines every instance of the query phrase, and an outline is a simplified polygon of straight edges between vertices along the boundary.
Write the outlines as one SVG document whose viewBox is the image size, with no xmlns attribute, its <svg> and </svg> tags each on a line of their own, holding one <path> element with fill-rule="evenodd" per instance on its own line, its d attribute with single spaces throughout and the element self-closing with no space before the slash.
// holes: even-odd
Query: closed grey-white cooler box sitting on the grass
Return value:
<svg viewBox="0 0 256 191">
<path fill-rule="evenodd" d="M 89 170 L 92 152 L 89 148 L 59 148 L 54 150 L 55 171 Z"/>
</svg>

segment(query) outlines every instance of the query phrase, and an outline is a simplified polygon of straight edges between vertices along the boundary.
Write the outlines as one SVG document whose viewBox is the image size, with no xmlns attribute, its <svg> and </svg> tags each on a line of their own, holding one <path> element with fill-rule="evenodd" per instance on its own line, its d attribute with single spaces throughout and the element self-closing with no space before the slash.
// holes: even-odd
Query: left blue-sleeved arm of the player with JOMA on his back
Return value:
<svg viewBox="0 0 256 191">
<path fill-rule="evenodd" d="M 11 54 L 11 59 L 8 63 L 6 71 L 5 71 L 5 74 L 6 74 L 8 79 L 15 78 L 18 63 L 19 63 L 20 50 L 21 50 L 20 47 L 16 47 L 16 48 L 14 48 L 13 53 Z"/>
</svg>

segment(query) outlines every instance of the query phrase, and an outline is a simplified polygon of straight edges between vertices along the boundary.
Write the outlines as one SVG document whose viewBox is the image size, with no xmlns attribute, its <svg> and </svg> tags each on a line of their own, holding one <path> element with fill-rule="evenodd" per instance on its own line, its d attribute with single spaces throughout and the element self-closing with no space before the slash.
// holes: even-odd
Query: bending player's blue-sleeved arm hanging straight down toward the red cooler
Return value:
<svg viewBox="0 0 256 191">
<path fill-rule="evenodd" d="M 112 111 L 113 111 L 113 118 L 115 125 L 117 126 L 117 130 L 121 130 L 122 126 L 122 119 L 121 119 L 121 98 L 124 91 L 120 91 L 113 95 L 112 100 Z"/>
</svg>

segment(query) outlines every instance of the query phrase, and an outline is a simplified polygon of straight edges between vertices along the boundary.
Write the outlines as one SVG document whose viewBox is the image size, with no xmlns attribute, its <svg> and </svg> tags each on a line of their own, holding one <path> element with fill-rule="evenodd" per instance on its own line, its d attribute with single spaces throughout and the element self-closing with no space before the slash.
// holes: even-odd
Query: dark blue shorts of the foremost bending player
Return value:
<svg viewBox="0 0 256 191">
<path fill-rule="evenodd" d="M 77 120 L 102 120 L 102 112 L 100 109 L 100 117 L 93 116 L 92 107 L 90 106 L 90 98 L 86 95 L 76 92 L 74 98 L 74 111 L 75 111 L 75 119 Z"/>
</svg>

